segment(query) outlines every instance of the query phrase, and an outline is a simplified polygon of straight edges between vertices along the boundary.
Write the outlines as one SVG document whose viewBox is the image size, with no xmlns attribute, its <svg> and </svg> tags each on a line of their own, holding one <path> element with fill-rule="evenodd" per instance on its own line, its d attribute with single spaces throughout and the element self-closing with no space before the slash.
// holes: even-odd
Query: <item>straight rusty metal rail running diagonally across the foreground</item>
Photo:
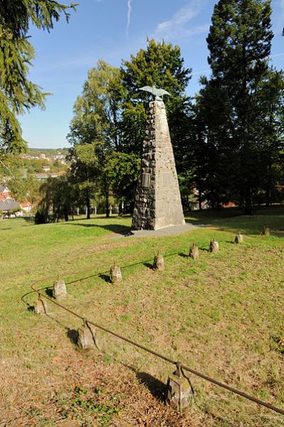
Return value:
<svg viewBox="0 0 284 427">
<path fill-rule="evenodd" d="M 35 282 L 35 283 L 38 283 Z M 35 284 L 34 283 L 34 284 Z M 197 377 L 200 377 L 202 379 L 205 379 L 208 382 L 211 382 L 212 384 L 215 384 L 219 387 L 222 387 L 223 389 L 229 390 L 229 392 L 232 392 L 234 394 L 238 394 L 241 397 L 244 397 L 245 399 L 248 399 L 250 401 L 255 402 L 258 405 L 264 406 L 268 409 L 271 409 L 272 411 L 278 412 L 278 414 L 282 414 L 284 415 L 284 411 L 283 409 L 277 408 L 276 406 L 273 406 L 271 404 L 266 403 L 265 401 L 261 401 L 260 399 L 257 399 L 256 397 L 250 396 L 249 394 L 246 394 L 245 392 L 241 392 L 238 389 L 235 389 L 234 387 L 231 387 L 229 385 L 224 384 L 223 382 L 219 382 L 217 379 L 208 377 L 207 375 L 202 374 L 201 372 L 198 372 L 196 370 L 193 370 L 192 368 L 182 365 L 182 363 L 177 362 L 176 360 L 170 359 L 170 357 L 167 357 L 165 355 L 161 355 L 160 353 L 157 353 L 154 350 L 151 350 L 150 348 L 145 347 L 145 345 L 141 345 L 136 343 L 133 340 L 130 340 L 129 338 L 126 338 L 124 336 L 119 335 L 119 333 L 116 333 L 114 331 L 111 331 L 110 329 L 104 328 L 104 326 L 99 325 L 98 323 L 94 323 L 93 321 L 89 321 L 87 318 L 85 318 L 84 316 L 80 316 L 80 314 L 75 313 L 75 311 L 72 311 L 70 309 L 67 309 L 67 307 L 62 306 L 62 304 L 59 304 L 57 301 L 55 301 L 54 299 L 51 299 L 49 296 L 42 294 L 41 292 L 39 292 L 37 289 L 35 289 L 33 287 L 34 284 L 31 284 L 31 288 L 33 289 L 34 292 L 36 292 L 38 295 L 43 296 L 45 299 L 48 299 L 48 301 L 51 301 L 53 304 L 55 304 L 56 306 L 59 306 L 61 309 L 68 311 L 70 314 L 72 314 L 73 316 L 80 318 L 82 321 L 87 321 L 90 325 L 95 326 L 98 329 L 101 329 L 104 332 L 107 332 L 109 334 L 111 334 L 112 336 L 115 336 L 116 338 L 119 338 L 121 340 L 126 341 L 126 343 L 129 343 L 131 345 L 134 345 L 137 348 L 141 348 L 141 350 L 145 350 L 147 353 L 151 353 L 152 355 L 159 357 L 160 359 L 165 360 L 165 362 L 169 362 L 172 363 L 173 365 L 177 366 L 177 363 L 179 364 L 180 368 L 182 370 L 186 370 L 187 372 L 190 372 L 193 375 L 196 375 Z"/>
</svg>

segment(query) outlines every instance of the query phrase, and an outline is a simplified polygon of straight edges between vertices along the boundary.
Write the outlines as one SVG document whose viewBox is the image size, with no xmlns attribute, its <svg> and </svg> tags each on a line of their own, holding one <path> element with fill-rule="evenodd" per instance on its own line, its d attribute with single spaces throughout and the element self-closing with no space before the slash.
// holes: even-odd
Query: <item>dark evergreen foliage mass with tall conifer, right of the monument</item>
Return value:
<svg viewBox="0 0 284 427">
<path fill-rule="evenodd" d="M 201 80 L 191 128 L 197 187 L 213 207 L 235 201 L 251 214 L 279 182 L 283 73 L 268 69 L 272 38 L 271 1 L 214 6 L 212 76 Z"/>
</svg>

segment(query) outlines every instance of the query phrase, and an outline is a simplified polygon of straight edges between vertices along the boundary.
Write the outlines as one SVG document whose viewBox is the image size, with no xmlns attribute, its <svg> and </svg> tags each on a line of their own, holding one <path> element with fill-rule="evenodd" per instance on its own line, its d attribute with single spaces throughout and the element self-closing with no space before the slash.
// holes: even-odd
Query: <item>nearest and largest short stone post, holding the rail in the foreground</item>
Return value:
<svg viewBox="0 0 284 427">
<path fill-rule="evenodd" d="M 168 377 L 166 401 L 171 408 L 180 412 L 190 405 L 190 398 L 192 397 L 190 382 L 182 374 L 180 364 L 177 364 L 177 370 Z"/>
</svg>

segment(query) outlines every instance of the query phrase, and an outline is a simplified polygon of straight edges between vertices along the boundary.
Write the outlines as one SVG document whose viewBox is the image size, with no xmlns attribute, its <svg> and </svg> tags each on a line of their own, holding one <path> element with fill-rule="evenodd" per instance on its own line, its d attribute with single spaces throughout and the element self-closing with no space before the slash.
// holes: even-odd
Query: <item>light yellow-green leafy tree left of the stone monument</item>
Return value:
<svg viewBox="0 0 284 427">
<path fill-rule="evenodd" d="M 75 102 L 68 140 L 72 144 L 70 154 L 76 160 L 72 165 L 73 176 L 86 194 L 88 212 L 92 194 L 100 189 L 109 216 L 111 188 L 115 189 L 118 199 L 122 199 L 132 192 L 127 189 L 133 187 L 133 179 L 136 179 L 136 168 L 132 169 L 132 174 L 130 170 L 133 160 L 133 165 L 136 165 L 137 159 L 133 155 L 124 155 L 119 157 L 123 165 L 118 165 L 118 157 L 115 155 L 124 150 L 121 133 L 124 92 L 121 71 L 107 62 L 99 61 L 97 67 L 89 70 L 82 95 Z M 117 179 L 111 167 L 117 171 L 119 169 Z M 117 185 L 119 179 L 124 181 L 124 185 Z M 113 185 L 114 182 L 116 185 Z"/>
</svg>

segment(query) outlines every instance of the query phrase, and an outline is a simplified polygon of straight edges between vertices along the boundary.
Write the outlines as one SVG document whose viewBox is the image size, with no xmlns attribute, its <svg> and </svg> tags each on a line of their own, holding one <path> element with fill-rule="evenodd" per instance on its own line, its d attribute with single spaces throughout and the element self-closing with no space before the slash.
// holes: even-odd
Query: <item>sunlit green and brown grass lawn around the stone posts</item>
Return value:
<svg viewBox="0 0 284 427">
<path fill-rule="evenodd" d="M 187 221 L 200 228 L 159 238 L 121 237 L 130 217 L 0 221 L 0 426 L 284 426 L 284 416 L 193 375 L 195 401 L 177 414 L 162 401 L 172 365 L 102 331 L 101 351 L 78 350 L 79 319 L 51 303 L 48 316 L 31 310 L 31 283 L 50 294 L 60 277 L 70 309 L 284 409 L 284 208 Z M 186 256 L 193 242 L 196 261 Z M 151 269 L 158 250 L 163 272 Z M 114 261 L 121 284 L 108 281 Z"/>
</svg>

